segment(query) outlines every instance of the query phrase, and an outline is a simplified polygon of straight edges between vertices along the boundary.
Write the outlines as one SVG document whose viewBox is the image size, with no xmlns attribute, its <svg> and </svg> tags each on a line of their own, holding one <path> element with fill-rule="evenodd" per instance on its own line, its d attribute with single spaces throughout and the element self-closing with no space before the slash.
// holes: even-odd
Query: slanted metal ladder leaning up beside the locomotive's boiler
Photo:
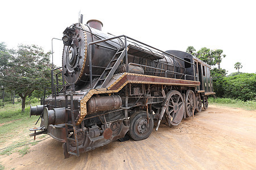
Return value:
<svg viewBox="0 0 256 170">
<path fill-rule="evenodd" d="M 125 57 L 125 48 L 118 49 L 111 61 L 109 62 L 108 66 L 102 72 L 100 78 L 98 78 L 97 82 L 94 84 L 93 88 L 96 88 L 98 83 L 102 80 L 104 80 L 104 82 L 101 84 L 100 88 L 106 87 L 106 85 L 109 83 L 110 79 L 114 75 L 115 71 L 117 70 L 117 67 L 123 60 L 123 57 Z"/>
</svg>

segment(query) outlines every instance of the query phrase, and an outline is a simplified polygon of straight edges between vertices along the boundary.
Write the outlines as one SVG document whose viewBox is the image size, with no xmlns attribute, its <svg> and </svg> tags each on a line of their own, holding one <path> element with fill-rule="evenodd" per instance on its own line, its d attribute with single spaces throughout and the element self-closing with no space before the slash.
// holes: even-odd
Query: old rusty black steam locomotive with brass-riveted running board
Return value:
<svg viewBox="0 0 256 170">
<path fill-rule="evenodd" d="M 46 133 L 63 142 L 65 158 L 126 134 L 135 141 L 146 139 L 154 122 L 156 130 L 161 121 L 179 125 L 201 112 L 202 104 L 207 109 L 208 96 L 215 94 L 207 63 L 104 33 L 102 26 L 89 20 L 64 30 L 63 66 L 58 73 L 52 70 L 52 94 L 30 108 L 41 118 L 30 136 Z"/>
</svg>

